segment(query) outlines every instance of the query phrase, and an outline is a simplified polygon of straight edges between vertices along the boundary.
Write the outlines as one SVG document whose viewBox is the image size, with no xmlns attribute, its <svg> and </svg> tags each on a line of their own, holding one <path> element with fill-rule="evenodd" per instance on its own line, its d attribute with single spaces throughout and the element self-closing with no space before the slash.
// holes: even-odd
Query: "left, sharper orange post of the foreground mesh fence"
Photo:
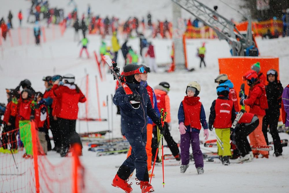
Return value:
<svg viewBox="0 0 289 193">
<path fill-rule="evenodd" d="M 33 161 L 34 161 L 34 171 L 35 171 L 35 189 L 36 193 L 39 193 L 39 173 L 38 173 L 38 150 L 37 150 L 37 138 L 36 138 L 36 128 L 35 122 L 31 121 L 31 136 L 32 136 L 32 151 L 33 151 Z"/>
</svg>

